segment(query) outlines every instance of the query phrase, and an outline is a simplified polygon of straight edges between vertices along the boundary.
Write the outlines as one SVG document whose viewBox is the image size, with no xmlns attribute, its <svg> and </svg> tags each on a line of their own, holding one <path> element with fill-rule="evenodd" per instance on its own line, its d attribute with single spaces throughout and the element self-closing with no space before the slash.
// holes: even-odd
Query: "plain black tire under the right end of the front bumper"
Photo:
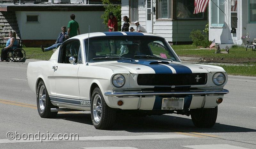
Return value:
<svg viewBox="0 0 256 149">
<path fill-rule="evenodd" d="M 217 119 L 218 106 L 191 110 L 191 118 L 196 127 L 211 128 Z"/>
</svg>

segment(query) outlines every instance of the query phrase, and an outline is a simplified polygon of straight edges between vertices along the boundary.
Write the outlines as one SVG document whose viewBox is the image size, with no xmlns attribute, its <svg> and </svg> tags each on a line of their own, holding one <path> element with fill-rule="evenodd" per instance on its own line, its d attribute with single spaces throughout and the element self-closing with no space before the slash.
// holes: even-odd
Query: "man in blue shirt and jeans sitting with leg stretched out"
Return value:
<svg viewBox="0 0 256 149">
<path fill-rule="evenodd" d="M 63 27 L 61 27 L 61 32 L 60 32 L 55 44 L 53 44 L 52 46 L 50 46 L 48 48 L 43 48 L 41 45 L 41 49 L 43 52 L 51 51 L 52 49 L 58 48 L 60 46 L 60 44 L 63 43 L 66 39 L 68 39 L 67 28 L 65 26 L 63 26 Z"/>
</svg>

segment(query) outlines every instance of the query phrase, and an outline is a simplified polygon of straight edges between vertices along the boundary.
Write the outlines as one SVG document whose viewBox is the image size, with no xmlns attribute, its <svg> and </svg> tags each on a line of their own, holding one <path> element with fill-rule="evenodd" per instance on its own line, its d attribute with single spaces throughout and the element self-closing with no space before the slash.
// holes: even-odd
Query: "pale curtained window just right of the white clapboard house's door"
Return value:
<svg viewBox="0 0 256 149">
<path fill-rule="evenodd" d="M 172 0 L 157 0 L 157 18 L 172 18 Z"/>
</svg>

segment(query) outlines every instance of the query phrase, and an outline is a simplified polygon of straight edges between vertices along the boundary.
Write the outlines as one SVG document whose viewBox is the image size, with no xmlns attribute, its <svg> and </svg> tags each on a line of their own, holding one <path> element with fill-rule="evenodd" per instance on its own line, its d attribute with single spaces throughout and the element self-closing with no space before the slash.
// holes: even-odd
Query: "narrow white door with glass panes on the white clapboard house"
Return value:
<svg viewBox="0 0 256 149">
<path fill-rule="evenodd" d="M 152 33 L 152 19 L 153 19 L 153 14 L 152 14 L 152 5 L 153 5 L 153 0 L 147 0 L 147 9 L 146 9 L 146 29 L 148 33 Z"/>
</svg>

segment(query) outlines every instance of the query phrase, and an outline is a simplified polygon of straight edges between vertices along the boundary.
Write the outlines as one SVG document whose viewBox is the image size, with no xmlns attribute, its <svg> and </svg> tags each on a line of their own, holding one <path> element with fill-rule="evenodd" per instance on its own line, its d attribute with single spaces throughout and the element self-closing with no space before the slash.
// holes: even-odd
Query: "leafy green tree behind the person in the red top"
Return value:
<svg viewBox="0 0 256 149">
<path fill-rule="evenodd" d="M 101 15 L 102 23 L 108 28 L 108 13 L 113 12 L 117 19 L 118 31 L 121 31 L 121 5 L 113 5 L 110 0 L 102 0 L 102 4 L 106 5 L 105 12 Z"/>
</svg>

